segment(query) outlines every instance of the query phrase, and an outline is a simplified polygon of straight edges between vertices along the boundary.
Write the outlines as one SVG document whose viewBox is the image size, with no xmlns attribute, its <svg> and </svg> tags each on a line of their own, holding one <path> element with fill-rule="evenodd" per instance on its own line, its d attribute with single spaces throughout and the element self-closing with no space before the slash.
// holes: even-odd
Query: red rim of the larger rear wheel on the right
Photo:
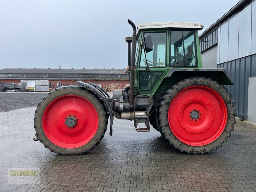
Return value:
<svg viewBox="0 0 256 192">
<path fill-rule="evenodd" d="M 180 91 L 168 110 L 172 133 L 183 143 L 203 146 L 216 140 L 225 129 L 228 112 L 220 94 L 195 85 Z"/>
</svg>

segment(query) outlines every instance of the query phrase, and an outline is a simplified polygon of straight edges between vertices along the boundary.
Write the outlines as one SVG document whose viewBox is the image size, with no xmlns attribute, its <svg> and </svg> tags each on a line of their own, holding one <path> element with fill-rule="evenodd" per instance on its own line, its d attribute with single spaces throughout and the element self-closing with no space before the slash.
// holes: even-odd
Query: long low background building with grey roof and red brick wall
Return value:
<svg viewBox="0 0 256 192">
<path fill-rule="evenodd" d="M 21 81 L 48 80 L 49 88 L 64 85 L 76 85 L 76 81 L 91 82 L 102 88 L 117 84 L 123 88 L 129 84 L 124 69 L 40 69 L 40 68 L 5 68 L 0 70 L 0 82 L 19 84 Z"/>
</svg>

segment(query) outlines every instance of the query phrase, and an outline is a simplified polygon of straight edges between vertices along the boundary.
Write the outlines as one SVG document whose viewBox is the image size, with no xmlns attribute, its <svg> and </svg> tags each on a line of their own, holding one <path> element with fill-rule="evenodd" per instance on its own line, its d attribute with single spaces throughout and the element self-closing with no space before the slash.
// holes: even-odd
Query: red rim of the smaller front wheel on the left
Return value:
<svg viewBox="0 0 256 192">
<path fill-rule="evenodd" d="M 68 120 L 73 124 L 68 125 Z M 61 148 L 79 148 L 96 134 L 99 117 L 89 100 L 78 95 L 63 95 L 45 108 L 42 125 L 53 144 Z"/>
</svg>

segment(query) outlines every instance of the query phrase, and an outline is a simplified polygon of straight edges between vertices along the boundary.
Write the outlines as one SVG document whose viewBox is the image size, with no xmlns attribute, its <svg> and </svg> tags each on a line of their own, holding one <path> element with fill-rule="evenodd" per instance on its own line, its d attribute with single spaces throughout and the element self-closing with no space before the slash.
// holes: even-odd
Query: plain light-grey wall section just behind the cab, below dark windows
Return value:
<svg viewBox="0 0 256 192">
<path fill-rule="evenodd" d="M 217 46 L 201 54 L 203 68 L 217 68 Z"/>
</svg>

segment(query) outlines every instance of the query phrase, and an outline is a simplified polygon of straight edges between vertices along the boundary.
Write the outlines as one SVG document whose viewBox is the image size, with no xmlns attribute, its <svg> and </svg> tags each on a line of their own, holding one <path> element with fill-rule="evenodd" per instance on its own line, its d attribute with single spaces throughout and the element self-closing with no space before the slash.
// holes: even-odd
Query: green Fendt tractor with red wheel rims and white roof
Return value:
<svg viewBox="0 0 256 192">
<path fill-rule="evenodd" d="M 140 23 L 128 43 L 130 86 L 112 98 L 96 84 L 77 81 L 49 92 L 37 106 L 36 139 L 52 152 L 84 154 L 104 137 L 113 117 L 150 125 L 175 149 L 188 154 L 216 150 L 234 130 L 235 106 L 224 85 L 225 69 L 203 69 L 196 22 Z M 138 126 L 138 124 L 140 124 Z M 143 126 L 142 126 L 143 125 Z"/>
</svg>

